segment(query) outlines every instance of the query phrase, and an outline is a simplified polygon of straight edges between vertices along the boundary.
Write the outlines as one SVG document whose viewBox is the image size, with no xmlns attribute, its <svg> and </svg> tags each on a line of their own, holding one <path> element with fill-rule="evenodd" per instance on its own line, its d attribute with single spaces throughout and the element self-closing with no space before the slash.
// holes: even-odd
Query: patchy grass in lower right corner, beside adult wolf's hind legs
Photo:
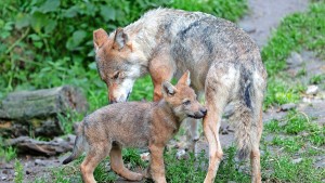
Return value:
<svg viewBox="0 0 325 183">
<path fill-rule="evenodd" d="M 291 110 L 284 119 L 264 126 L 262 174 L 270 182 L 322 182 L 324 169 L 316 169 L 314 156 L 324 156 L 325 128 L 303 113 Z M 275 151 L 270 151 L 275 149 Z M 294 159 L 298 159 L 295 162 Z"/>
</svg>

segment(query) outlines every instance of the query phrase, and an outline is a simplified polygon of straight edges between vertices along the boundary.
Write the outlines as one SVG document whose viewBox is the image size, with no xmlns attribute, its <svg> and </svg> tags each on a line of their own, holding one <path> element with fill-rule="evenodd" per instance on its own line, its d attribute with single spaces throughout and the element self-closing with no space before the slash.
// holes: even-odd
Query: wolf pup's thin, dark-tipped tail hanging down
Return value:
<svg viewBox="0 0 325 183">
<path fill-rule="evenodd" d="M 77 138 L 75 140 L 75 146 L 73 149 L 73 154 L 67 157 L 62 164 L 66 165 L 69 164 L 70 161 L 75 160 L 76 158 L 78 158 L 82 153 L 83 153 L 83 134 L 82 134 L 82 130 L 81 127 L 82 122 L 79 123 L 78 130 L 77 130 Z"/>
</svg>

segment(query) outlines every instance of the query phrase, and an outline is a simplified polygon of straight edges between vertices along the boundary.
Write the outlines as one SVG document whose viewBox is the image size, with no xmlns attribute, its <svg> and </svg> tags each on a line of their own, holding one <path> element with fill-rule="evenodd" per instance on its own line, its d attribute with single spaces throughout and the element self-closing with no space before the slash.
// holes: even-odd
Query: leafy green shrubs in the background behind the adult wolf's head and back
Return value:
<svg viewBox="0 0 325 183">
<path fill-rule="evenodd" d="M 93 58 L 93 30 L 112 31 L 158 6 L 231 21 L 247 10 L 246 0 L 3 0 L 0 6 L 0 99 L 14 90 L 68 83 L 84 90 L 92 108 L 107 103 Z M 152 100 L 152 88 L 148 77 L 139 80 L 131 100 Z"/>
</svg>

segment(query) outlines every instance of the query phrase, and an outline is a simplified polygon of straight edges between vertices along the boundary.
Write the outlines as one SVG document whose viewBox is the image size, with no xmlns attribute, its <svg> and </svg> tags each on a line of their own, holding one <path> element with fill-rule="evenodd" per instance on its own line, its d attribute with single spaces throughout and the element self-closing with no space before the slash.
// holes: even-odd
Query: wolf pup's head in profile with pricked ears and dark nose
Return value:
<svg viewBox="0 0 325 183">
<path fill-rule="evenodd" d="M 199 104 L 190 83 L 190 71 L 187 70 L 176 86 L 168 81 L 162 82 L 161 92 L 164 100 L 171 106 L 178 117 L 181 119 L 186 117 L 199 119 L 207 114 L 207 109 Z"/>
</svg>

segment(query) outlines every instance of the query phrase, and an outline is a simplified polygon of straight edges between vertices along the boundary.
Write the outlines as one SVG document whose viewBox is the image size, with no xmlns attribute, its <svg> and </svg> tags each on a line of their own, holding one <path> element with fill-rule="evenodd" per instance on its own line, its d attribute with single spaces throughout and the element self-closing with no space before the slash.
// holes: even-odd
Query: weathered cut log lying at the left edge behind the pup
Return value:
<svg viewBox="0 0 325 183">
<path fill-rule="evenodd" d="M 0 135 L 53 138 L 63 134 L 60 115 L 87 108 L 81 91 L 69 86 L 10 93 L 0 103 Z"/>
</svg>

